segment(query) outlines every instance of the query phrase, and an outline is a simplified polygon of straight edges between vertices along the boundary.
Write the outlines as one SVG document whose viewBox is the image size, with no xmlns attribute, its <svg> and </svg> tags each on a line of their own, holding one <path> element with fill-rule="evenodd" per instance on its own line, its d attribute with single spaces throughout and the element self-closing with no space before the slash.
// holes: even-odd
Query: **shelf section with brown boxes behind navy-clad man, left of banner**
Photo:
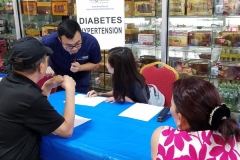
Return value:
<svg viewBox="0 0 240 160">
<path fill-rule="evenodd" d="M 19 0 L 23 36 L 42 37 L 57 30 L 65 18 L 76 19 L 75 0 Z"/>
</svg>

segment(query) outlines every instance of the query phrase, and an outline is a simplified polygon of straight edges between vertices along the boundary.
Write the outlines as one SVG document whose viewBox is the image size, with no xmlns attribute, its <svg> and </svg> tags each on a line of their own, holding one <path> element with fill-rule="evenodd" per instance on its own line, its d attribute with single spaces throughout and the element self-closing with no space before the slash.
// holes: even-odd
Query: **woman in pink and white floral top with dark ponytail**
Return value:
<svg viewBox="0 0 240 160">
<path fill-rule="evenodd" d="M 178 129 L 154 131 L 153 160 L 240 160 L 240 128 L 214 85 L 196 77 L 177 80 L 170 112 Z"/>
</svg>

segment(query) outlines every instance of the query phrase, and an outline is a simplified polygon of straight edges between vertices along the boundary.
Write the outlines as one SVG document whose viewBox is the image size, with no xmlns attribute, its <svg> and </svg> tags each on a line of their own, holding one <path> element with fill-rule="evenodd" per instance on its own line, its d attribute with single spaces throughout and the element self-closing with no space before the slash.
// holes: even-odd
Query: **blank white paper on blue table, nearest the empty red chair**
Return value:
<svg viewBox="0 0 240 160">
<path fill-rule="evenodd" d="M 138 119 L 142 121 L 149 121 L 162 109 L 163 107 L 159 106 L 153 106 L 144 103 L 135 103 L 134 105 L 120 113 L 119 116 Z"/>
</svg>

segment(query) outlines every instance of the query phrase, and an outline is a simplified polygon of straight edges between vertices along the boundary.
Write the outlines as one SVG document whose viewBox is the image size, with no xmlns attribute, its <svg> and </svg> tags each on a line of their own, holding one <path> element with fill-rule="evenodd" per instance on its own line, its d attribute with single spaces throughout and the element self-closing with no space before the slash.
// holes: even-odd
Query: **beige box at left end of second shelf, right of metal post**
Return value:
<svg viewBox="0 0 240 160">
<path fill-rule="evenodd" d="M 187 46 L 188 31 L 169 31 L 169 46 Z"/>
</svg>

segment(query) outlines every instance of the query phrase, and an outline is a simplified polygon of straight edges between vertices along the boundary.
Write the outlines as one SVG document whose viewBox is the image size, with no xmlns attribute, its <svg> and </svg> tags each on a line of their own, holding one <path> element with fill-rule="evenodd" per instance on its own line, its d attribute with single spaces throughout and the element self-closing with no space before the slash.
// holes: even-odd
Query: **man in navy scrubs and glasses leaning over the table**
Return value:
<svg viewBox="0 0 240 160">
<path fill-rule="evenodd" d="M 76 21 L 66 19 L 59 23 L 57 32 L 44 36 L 41 42 L 54 52 L 49 56 L 46 74 L 69 75 L 76 81 L 76 91 L 87 93 L 89 73 L 98 67 L 102 59 L 96 38 L 81 32 Z"/>
</svg>

